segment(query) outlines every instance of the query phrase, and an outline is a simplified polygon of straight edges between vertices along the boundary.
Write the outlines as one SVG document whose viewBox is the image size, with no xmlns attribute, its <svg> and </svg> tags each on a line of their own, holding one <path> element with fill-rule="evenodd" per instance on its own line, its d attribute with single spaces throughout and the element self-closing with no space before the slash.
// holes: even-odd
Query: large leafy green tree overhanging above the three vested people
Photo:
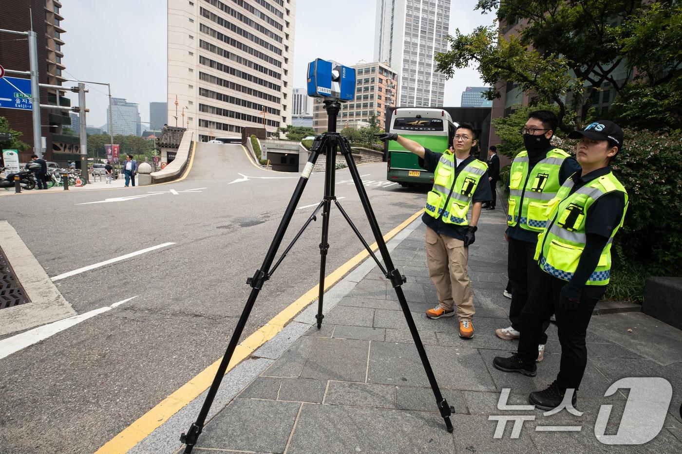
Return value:
<svg viewBox="0 0 682 454">
<path fill-rule="evenodd" d="M 657 3 L 657 2 L 653 2 Z M 559 125 L 568 132 L 587 119 L 591 99 L 609 83 L 618 92 L 627 80 L 616 70 L 625 61 L 630 22 L 647 14 L 640 0 L 479 0 L 476 9 L 492 12 L 503 24 L 520 22 L 518 34 L 503 37 L 497 27 L 459 30 L 447 37 L 448 52 L 436 55 L 437 70 L 476 65 L 488 99 L 499 97 L 500 80 L 531 94 L 531 104 L 557 104 Z"/>
</svg>

